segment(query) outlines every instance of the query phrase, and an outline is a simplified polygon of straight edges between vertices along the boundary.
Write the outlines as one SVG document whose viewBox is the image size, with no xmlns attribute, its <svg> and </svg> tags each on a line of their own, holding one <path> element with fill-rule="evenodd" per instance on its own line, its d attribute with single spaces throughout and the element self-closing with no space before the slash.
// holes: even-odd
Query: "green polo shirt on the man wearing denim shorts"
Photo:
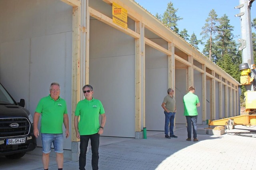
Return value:
<svg viewBox="0 0 256 170">
<path fill-rule="evenodd" d="M 68 114 L 66 101 L 57 99 L 54 101 L 50 95 L 42 98 L 37 107 L 36 112 L 41 113 L 41 133 L 59 134 L 63 133 L 63 117 Z"/>
</svg>

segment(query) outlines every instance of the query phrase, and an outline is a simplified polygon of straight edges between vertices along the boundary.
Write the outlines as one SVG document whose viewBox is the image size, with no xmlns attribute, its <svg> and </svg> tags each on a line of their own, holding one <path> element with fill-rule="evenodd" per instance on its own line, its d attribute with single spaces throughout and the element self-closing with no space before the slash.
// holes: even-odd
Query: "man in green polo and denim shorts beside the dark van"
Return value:
<svg viewBox="0 0 256 170">
<path fill-rule="evenodd" d="M 63 131 L 62 124 L 66 128 L 65 136 L 69 136 L 68 112 L 64 99 L 60 98 L 60 84 L 51 83 L 50 95 L 40 99 L 36 112 L 34 113 L 34 135 L 39 136 L 38 121 L 41 118 L 41 138 L 43 145 L 43 166 L 44 170 L 48 170 L 49 156 L 52 143 L 56 152 L 56 162 L 58 170 L 63 168 Z"/>
</svg>

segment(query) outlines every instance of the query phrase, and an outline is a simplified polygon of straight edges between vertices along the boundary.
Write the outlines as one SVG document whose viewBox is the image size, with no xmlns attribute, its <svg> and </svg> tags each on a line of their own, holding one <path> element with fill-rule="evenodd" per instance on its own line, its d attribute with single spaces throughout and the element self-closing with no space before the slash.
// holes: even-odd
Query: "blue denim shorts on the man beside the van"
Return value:
<svg viewBox="0 0 256 170">
<path fill-rule="evenodd" d="M 43 144 L 43 153 L 48 154 L 51 152 L 51 146 L 53 143 L 54 151 L 56 153 L 63 153 L 63 134 L 50 134 L 42 133 L 42 144 Z"/>
</svg>

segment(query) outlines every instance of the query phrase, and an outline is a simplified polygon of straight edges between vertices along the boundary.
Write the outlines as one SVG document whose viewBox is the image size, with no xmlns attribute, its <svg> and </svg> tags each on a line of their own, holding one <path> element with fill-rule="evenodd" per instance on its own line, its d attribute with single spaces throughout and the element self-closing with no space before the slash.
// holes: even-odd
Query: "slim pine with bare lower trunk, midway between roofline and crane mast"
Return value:
<svg viewBox="0 0 256 170">
<path fill-rule="evenodd" d="M 206 18 L 206 23 L 202 27 L 202 32 L 200 35 L 203 35 L 202 39 L 207 40 L 207 43 L 204 45 L 204 53 L 206 54 L 206 49 L 209 50 L 207 53 L 208 58 L 212 60 L 212 44 L 213 44 L 213 36 L 217 32 L 217 24 L 218 24 L 218 15 L 215 10 L 212 9 L 209 12 L 209 17 Z"/>
</svg>

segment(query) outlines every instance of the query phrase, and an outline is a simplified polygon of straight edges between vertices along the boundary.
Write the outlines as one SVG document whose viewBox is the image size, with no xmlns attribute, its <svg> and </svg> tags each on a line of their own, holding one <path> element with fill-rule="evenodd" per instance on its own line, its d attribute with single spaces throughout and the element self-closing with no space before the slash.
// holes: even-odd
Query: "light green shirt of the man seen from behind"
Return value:
<svg viewBox="0 0 256 170">
<path fill-rule="evenodd" d="M 183 103 L 184 103 L 184 116 L 198 115 L 196 104 L 199 103 L 199 98 L 197 95 L 190 92 L 187 93 L 183 97 Z"/>
</svg>

